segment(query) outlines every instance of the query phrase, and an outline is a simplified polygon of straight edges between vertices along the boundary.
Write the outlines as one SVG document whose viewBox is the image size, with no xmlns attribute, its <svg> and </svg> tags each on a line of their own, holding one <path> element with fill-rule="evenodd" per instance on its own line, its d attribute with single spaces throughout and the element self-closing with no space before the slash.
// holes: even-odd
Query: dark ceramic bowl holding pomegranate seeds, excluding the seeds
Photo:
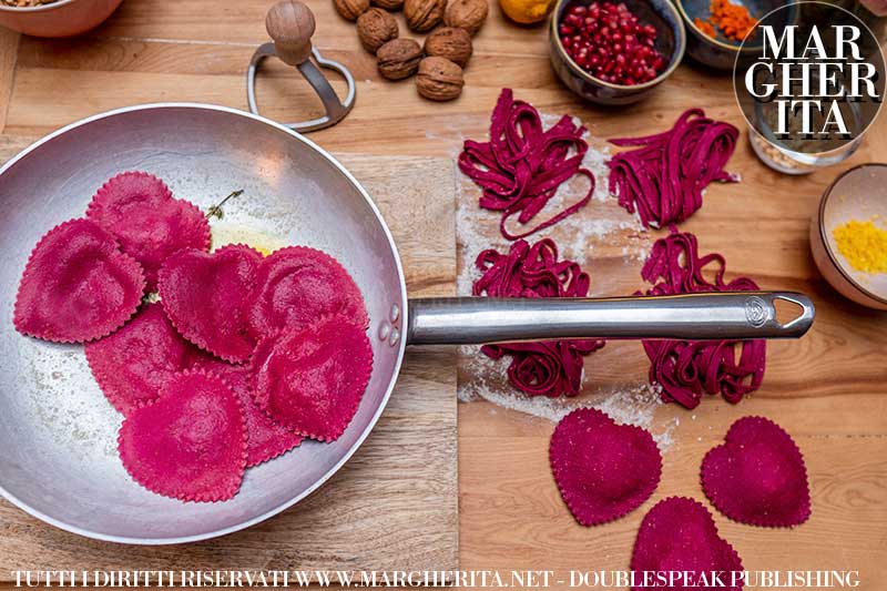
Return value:
<svg viewBox="0 0 887 591">
<path fill-rule="evenodd" d="M 681 14 L 671 0 L 619 0 L 624 2 L 642 23 L 656 28 L 655 48 L 669 57 L 669 63 L 656 78 L 643 84 L 628 86 L 594 78 L 570 58 L 558 34 L 558 27 L 563 20 L 567 8 L 575 1 L 590 4 L 592 0 L 558 0 L 549 22 L 549 44 L 554 71 L 570 90 L 583 99 L 599 104 L 635 103 L 653 92 L 653 89 L 669 78 L 681 63 L 686 32 Z"/>
</svg>

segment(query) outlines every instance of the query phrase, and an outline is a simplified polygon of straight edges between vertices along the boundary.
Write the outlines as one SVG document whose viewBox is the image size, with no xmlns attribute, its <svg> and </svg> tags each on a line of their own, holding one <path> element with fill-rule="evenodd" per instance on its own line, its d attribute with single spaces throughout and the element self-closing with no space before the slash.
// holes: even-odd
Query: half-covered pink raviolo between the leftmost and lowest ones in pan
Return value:
<svg viewBox="0 0 887 591">
<path fill-rule="evenodd" d="M 120 330 L 88 343 L 85 351 L 102 393 L 124 415 L 154 400 L 201 354 L 175 330 L 162 304 L 143 306 Z"/>
</svg>

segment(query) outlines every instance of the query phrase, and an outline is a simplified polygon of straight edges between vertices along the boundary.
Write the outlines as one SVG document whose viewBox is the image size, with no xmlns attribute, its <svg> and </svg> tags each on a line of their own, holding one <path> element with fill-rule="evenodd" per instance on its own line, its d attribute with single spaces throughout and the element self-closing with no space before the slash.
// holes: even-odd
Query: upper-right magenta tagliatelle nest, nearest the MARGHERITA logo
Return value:
<svg viewBox="0 0 887 591">
<path fill-rule="evenodd" d="M 610 192 L 630 213 L 636 210 L 648 227 L 683 222 L 702 207 L 702 192 L 712 181 L 737 180 L 724 166 L 738 136 L 730 123 L 691 109 L 666 132 L 610 140 L 619 146 L 638 146 L 608 162 Z"/>
</svg>

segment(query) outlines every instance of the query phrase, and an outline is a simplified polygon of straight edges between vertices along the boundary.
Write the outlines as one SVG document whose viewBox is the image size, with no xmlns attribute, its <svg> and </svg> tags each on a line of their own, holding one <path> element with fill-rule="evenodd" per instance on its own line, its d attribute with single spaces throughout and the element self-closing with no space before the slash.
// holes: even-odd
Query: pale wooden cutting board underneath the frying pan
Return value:
<svg viewBox="0 0 887 591">
<path fill-rule="evenodd" d="M 28 143 L 0 135 L 0 162 Z M 410 295 L 452 295 L 450 161 L 349 154 L 340 161 L 385 215 Z M 216 540 L 145 548 L 88 540 L 0 501 L 0 582 L 9 581 L 11 571 L 48 565 L 78 571 L 453 570 L 457 495 L 455 351 L 416 350 L 407 354 L 388 407 L 363 447 L 296 507 Z"/>
</svg>

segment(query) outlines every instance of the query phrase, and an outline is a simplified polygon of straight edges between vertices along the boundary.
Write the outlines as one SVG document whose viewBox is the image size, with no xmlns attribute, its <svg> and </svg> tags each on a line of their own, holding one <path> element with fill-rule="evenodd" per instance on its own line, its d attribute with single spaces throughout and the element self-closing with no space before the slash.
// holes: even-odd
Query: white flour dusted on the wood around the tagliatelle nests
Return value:
<svg viewBox="0 0 887 591">
<path fill-rule="evenodd" d="M 550 114 L 541 116 L 546 128 L 560 119 Z M 582 165 L 590 170 L 595 179 L 591 202 L 553 227 L 527 240 L 532 243 L 543 237 L 553 238 L 561 249 L 562 257 L 577 261 L 591 274 L 591 295 L 632 293 L 640 285 L 626 285 L 626 282 L 639 277 L 641 264 L 650 251 L 650 236 L 640 218 L 620 207 L 608 191 L 609 147 L 602 140 L 589 134 L 585 134 L 584 139 L 589 143 L 589 150 Z M 487 248 L 507 252 L 510 242 L 502 237 L 498 230 L 497 212 L 481 210 L 478 206 L 480 188 L 462 176 L 458 170 L 456 174 L 458 176 L 456 228 L 460 253 L 457 287 L 459 295 L 470 295 L 473 282 L 480 277 L 480 272 L 475 267 L 478 255 Z M 562 211 L 575 203 L 587 194 L 588 190 L 587 179 L 575 176 L 569 180 L 561 185 L 554 197 L 531 223 L 546 220 L 552 212 Z M 513 230 L 513 226 L 510 227 Z M 618 273 L 612 273 L 613 269 Z M 663 451 L 673 444 L 672 435 L 677 425 L 676 419 L 664 424 L 654 420 L 656 408 L 662 405 L 662 400 L 659 387 L 648 384 L 645 373 L 639 373 L 636 381 L 630 384 L 595 385 L 593 377 L 583 371 L 583 388 L 580 396 L 529 397 L 508 383 L 506 369 L 509 359 L 490 359 L 476 346 L 461 347 L 459 353 L 458 394 L 461 403 L 486 400 L 502 408 L 553 422 L 575 408 L 591 407 L 606 412 L 616 422 L 636 425 L 650 430 Z M 590 358 L 594 355 L 592 354 Z"/>
</svg>

